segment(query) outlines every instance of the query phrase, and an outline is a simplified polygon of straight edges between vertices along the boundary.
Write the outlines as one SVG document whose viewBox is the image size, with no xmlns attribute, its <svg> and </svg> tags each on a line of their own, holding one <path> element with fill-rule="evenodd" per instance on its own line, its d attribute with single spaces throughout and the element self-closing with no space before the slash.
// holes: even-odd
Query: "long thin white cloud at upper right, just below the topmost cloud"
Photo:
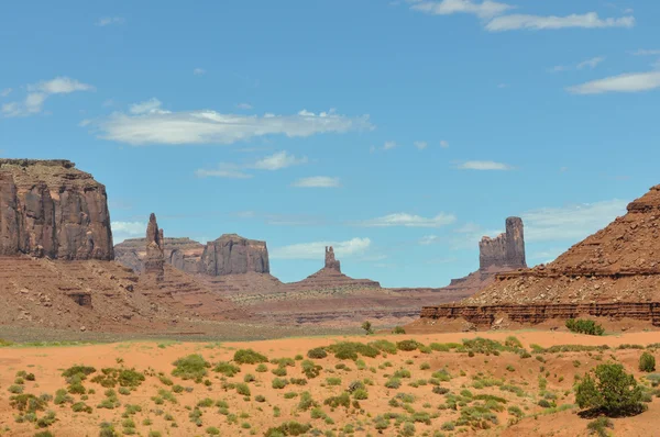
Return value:
<svg viewBox="0 0 660 437">
<path fill-rule="evenodd" d="M 566 16 L 510 14 L 494 18 L 486 24 L 486 30 L 491 32 L 503 32 L 520 29 L 538 31 L 566 27 L 632 27 L 634 25 L 635 18 L 631 15 L 618 19 L 601 19 L 596 12 L 571 14 Z"/>
</svg>

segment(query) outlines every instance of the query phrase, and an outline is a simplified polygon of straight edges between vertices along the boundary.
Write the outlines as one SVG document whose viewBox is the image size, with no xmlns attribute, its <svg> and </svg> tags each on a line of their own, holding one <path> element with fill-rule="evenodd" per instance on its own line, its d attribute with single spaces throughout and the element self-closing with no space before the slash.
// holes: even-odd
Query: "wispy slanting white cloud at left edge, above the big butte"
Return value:
<svg viewBox="0 0 660 437">
<path fill-rule="evenodd" d="M 44 102 L 53 94 L 68 94 L 76 91 L 92 91 L 91 85 L 79 82 L 68 77 L 56 77 L 32 83 L 28 87 L 28 96 L 22 102 L 10 102 L 2 105 L 4 116 L 26 116 L 42 112 Z"/>
</svg>

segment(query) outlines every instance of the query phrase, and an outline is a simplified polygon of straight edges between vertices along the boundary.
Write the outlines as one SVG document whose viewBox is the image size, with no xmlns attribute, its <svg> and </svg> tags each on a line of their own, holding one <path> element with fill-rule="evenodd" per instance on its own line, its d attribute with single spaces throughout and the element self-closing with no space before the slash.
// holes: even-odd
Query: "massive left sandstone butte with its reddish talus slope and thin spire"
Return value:
<svg viewBox="0 0 660 437">
<path fill-rule="evenodd" d="M 150 231 L 158 255 L 155 217 Z M 156 260 L 155 276 L 139 277 L 113 257 L 106 188 L 91 175 L 68 160 L 0 159 L 0 324 L 133 332 L 244 317 L 184 271 Z"/>
</svg>

